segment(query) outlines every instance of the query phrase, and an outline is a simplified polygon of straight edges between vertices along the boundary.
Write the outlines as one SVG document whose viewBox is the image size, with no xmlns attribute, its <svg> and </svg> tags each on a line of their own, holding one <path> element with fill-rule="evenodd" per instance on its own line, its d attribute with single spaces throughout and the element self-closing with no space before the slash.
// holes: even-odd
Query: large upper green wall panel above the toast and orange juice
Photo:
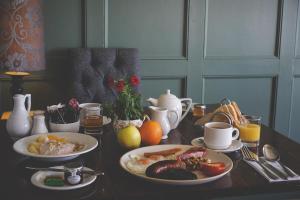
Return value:
<svg viewBox="0 0 300 200">
<path fill-rule="evenodd" d="M 205 56 L 276 56 L 278 1 L 206 2 Z"/>
</svg>

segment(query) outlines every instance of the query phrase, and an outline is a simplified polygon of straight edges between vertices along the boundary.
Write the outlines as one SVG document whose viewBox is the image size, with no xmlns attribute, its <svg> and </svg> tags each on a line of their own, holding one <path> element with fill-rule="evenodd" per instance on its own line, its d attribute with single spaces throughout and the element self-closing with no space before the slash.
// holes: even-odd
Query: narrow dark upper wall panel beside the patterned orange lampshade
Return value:
<svg viewBox="0 0 300 200">
<path fill-rule="evenodd" d="M 81 46 L 82 1 L 43 1 L 46 51 Z"/>
</svg>

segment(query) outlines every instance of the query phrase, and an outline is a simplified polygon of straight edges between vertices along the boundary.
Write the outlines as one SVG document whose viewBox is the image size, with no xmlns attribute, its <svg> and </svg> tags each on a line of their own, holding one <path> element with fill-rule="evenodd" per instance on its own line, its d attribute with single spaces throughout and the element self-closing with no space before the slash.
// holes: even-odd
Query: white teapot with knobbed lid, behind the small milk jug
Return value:
<svg viewBox="0 0 300 200">
<path fill-rule="evenodd" d="M 165 94 L 160 95 L 158 99 L 149 98 L 147 99 L 153 106 L 168 109 L 168 118 L 171 129 L 175 129 L 179 122 L 187 115 L 188 111 L 192 106 L 192 99 L 182 98 L 179 99 L 175 95 L 171 94 L 168 89 Z M 185 113 L 182 115 L 182 104 L 181 102 L 186 101 L 188 107 Z"/>
</svg>

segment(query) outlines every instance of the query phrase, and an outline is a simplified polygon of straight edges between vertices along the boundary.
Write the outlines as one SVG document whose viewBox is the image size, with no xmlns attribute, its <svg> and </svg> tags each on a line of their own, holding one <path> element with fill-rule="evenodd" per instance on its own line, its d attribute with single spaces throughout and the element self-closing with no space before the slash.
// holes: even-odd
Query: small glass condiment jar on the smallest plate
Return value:
<svg viewBox="0 0 300 200">
<path fill-rule="evenodd" d="M 65 181 L 70 185 L 77 185 L 82 182 L 82 170 L 83 166 L 81 162 L 72 162 L 64 166 L 66 172 L 64 173 Z"/>
</svg>

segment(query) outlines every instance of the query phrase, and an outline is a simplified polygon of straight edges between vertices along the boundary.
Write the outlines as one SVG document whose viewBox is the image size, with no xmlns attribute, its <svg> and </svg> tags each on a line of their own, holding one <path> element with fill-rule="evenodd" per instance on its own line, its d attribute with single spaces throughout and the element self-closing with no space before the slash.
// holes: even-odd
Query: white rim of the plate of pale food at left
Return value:
<svg viewBox="0 0 300 200">
<path fill-rule="evenodd" d="M 42 135 L 42 134 L 38 134 L 38 135 L 30 135 L 30 136 L 27 136 L 27 137 L 24 137 L 24 138 L 21 138 L 21 139 L 17 140 L 13 144 L 13 149 L 14 149 L 15 152 L 17 152 L 21 155 L 24 155 L 24 156 L 29 156 L 29 157 L 34 157 L 34 158 L 43 158 L 43 159 L 59 159 L 59 158 L 79 156 L 81 154 L 92 151 L 93 149 L 95 149 L 98 146 L 98 140 L 96 140 L 94 137 L 92 137 L 90 135 L 87 135 L 87 134 L 74 133 L 74 132 L 53 132 L 53 133 L 46 133 L 46 134 L 43 134 L 43 135 L 59 135 L 59 136 L 61 136 L 61 135 L 70 135 L 70 134 L 74 134 L 74 136 L 75 135 L 81 135 L 83 137 L 89 137 L 94 142 L 94 144 L 92 146 L 90 146 L 89 148 L 83 150 L 83 151 L 77 151 L 77 152 L 73 152 L 73 153 L 66 154 L 66 155 L 41 155 L 41 154 L 31 153 L 28 150 L 27 150 L 27 152 L 24 152 L 24 151 L 21 151 L 19 148 L 17 148 L 17 146 L 20 143 L 24 143 L 24 141 L 28 140 L 29 138 L 36 138 L 36 137 L 39 137 L 39 135 Z"/>
</svg>

